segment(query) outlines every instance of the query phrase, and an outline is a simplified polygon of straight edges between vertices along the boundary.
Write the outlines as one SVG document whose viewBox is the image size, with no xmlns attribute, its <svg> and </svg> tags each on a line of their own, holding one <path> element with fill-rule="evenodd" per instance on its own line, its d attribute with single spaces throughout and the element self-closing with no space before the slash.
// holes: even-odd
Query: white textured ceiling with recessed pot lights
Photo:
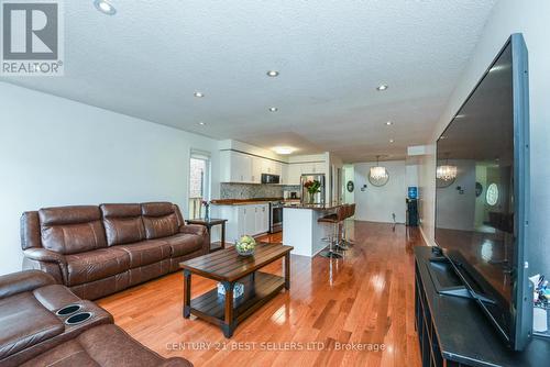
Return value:
<svg viewBox="0 0 550 367">
<path fill-rule="evenodd" d="M 216 138 L 403 157 L 431 135 L 495 1 L 112 0 L 114 16 L 65 1 L 65 77 L 10 80 Z"/>
</svg>

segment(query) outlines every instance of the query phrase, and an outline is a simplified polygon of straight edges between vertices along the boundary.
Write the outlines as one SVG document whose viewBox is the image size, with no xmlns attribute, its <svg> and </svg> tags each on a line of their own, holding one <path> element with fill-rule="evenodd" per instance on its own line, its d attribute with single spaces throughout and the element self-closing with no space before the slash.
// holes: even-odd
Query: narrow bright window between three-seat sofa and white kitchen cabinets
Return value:
<svg viewBox="0 0 550 367">
<path fill-rule="evenodd" d="M 210 200 L 210 154 L 193 149 L 189 160 L 189 218 L 204 216 L 202 200 Z"/>
</svg>

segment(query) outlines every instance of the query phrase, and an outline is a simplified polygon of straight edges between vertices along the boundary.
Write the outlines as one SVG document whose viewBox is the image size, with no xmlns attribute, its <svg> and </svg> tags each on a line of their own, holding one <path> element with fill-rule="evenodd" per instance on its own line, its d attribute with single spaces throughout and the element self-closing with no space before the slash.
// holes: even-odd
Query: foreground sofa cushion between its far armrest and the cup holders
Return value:
<svg viewBox="0 0 550 367">
<path fill-rule="evenodd" d="M 65 325 L 32 292 L 0 300 L 0 359 L 62 334 Z"/>
</svg>

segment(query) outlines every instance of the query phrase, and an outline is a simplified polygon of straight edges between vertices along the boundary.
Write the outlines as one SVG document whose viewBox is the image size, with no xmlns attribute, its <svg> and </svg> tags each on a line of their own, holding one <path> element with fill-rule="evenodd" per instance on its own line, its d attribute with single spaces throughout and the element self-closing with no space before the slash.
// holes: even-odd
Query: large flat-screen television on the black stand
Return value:
<svg viewBox="0 0 550 367">
<path fill-rule="evenodd" d="M 527 47 L 506 42 L 437 142 L 436 243 L 505 343 L 531 336 Z"/>
</svg>

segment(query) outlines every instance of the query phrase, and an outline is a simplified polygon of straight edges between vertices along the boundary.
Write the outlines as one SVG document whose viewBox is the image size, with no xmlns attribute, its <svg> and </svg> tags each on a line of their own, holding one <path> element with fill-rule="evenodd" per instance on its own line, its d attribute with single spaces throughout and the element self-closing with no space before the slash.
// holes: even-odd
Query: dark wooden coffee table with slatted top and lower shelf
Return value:
<svg viewBox="0 0 550 367">
<path fill-rule="evenodd" d="M 254 256 L 240 256 L 234 248 L 222 249 L 179 264 L 184 269 L 184 318 L 191 313 L 221 327 L 231 337 L 239 323 L 275 297 L 283 288 L 290 289 L 290 251 L 278 244 L 260 244 Z M 285 276 L 276 276 L 260 268 L 285 258 Z M 212 289 L 191 300 L 191 274 L 218 280 L 226 296 Z M 244 285 L 244 294 L 233 300 L 235 282 Z"/>
</svg>

